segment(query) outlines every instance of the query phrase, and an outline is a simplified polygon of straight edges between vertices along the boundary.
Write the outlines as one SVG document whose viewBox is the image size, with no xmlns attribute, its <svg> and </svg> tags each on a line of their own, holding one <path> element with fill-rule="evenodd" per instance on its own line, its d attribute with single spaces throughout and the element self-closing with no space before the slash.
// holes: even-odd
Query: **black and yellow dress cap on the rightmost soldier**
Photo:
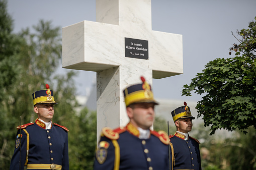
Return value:
<svg viewBox="0 0 256 170">
<path fill-rule="evenodd" d="M 186 102 L 184 102 L 184 105 L 185 106 L 178 107 L 177 109 L 172 111 L 174 122 L 178 119 L 185 119 L 185 118 L 195 119 L 195 117 L 191 115 L 190 108 L 189 106 L 187 106 Z"/>
</svg>

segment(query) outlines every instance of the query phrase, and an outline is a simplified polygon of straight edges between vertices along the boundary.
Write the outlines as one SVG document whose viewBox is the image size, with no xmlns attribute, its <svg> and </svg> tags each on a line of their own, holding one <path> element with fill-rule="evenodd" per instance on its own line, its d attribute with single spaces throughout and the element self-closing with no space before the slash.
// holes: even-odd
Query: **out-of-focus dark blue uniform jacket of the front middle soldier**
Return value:
<svg viewBox="0 0 256 170">
<path fill-rule="evenodd" d="M 114 131 L 103 130 L 94 169 L 168 169 L 168 136 L 150 133 L 148 139 L 138 138 L 139 131 L 131 123 Z"/>
</svg>

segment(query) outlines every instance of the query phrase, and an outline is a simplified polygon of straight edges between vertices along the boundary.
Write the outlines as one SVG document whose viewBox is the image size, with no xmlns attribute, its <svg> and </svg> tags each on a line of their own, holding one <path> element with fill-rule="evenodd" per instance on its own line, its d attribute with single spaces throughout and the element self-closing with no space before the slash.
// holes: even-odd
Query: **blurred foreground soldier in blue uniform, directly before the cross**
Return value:
<svg viewBox="0 0 256 170">
<path fill-rule="evenodd" d="M 130 122 L 114 130 L 103 128 L 94 169 L 168 169 L 168 135 L 149 129 L 158 103 L 149 84 L 141 80 L 123 91 Z"/>
</svg>

